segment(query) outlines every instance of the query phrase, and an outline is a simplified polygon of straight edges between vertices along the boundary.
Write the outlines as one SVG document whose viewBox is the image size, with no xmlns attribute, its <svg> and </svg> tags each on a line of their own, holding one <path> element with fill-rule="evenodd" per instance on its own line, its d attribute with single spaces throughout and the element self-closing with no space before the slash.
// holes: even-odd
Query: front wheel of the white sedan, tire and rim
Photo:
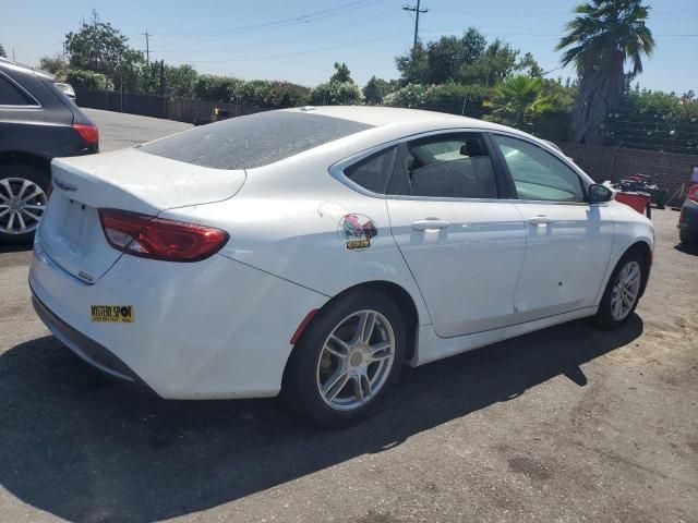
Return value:
<svg viewBox="0 0 698 523">
<path fill-rule="evenodd" d="M 621 327 L 637 307 L 646 278 L 642 264 L 640 254 L 629 251 L 616 265 L 597 312 L 597 323 L 602 328 Z"/>
</svg>

